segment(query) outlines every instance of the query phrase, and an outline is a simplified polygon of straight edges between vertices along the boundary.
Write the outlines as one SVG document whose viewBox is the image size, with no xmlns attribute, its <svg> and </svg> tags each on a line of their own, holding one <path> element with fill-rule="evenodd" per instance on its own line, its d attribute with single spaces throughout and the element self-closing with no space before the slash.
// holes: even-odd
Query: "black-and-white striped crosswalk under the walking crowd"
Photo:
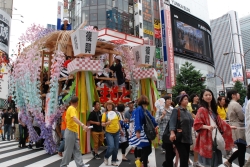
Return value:
<svg viewBox="0 0 250 167">
<path fill-rule="evenodd" d="M 56 155 L 48 155 L 45 150 L 32 150 L 32 149 L 18 149 L 18 142 L 12 141 L 12 142 L 2 142 L 0 141 L 0 166 L 7 167 L 7 166 L 25 166 L 25 167 L 54 167 L 59 166 L 61 163 L 61 157 Z M 103 156 L 105 155 L 105 147 L 102 147 L 101 150 L 99 150 L 99 154 L 101 154 L 102 159 L 95 160 L 93 159 L 93 155 L 91 153 L 85 154 L 82 156 L 83 162 L 85 164 L 90 164 L 90 167 L 106 167 L 106 165 L 103 163 Z M 129 154 L 131 147 L 129 146 L 126 149 L 126 155 L 129 157 L 131 162 L 122 162 L 122 153 L 119 149 L 117 158 L 119 161 L 117 164 L 121 167 L 134 167 L 134 155 Z M 8 150 L 10 150 L 8 152 Z M 233 151 L 236 151 L 237 149 L 233 149 Z M 27 154 L 26 154 L 27 153 Z M 246 153 L 245 156 L 246 160 L 250 157 L 249 150 Z M 193 160 L 193 156 L 190 156 L 190 158 Z M 1 161 L 2 160 L 2 161 Z M 159 167 L 161 166 L 161 163 L 164 161 L 164 154 L 161 153 L 160 149 L 154 149 L 152 148 L 152 153 L 149 155 L 149 166 L 150 167 Z M 223 158 L 223 162 L 225 162 L 226 159 Z M 109 165 L 111 163 L 111 157 L 109 158 Z M 52 165 L 53 164 L 53 165 Z M 234 163 L 232 164 L 232 167 L 239 167 L 238 160 L 236 159 Z M 75 161 L 71 161 L 68 167 L 75 167 Z M 219 167 L 224 167 L 224 165 L 220 165 Z"/>
</svg>

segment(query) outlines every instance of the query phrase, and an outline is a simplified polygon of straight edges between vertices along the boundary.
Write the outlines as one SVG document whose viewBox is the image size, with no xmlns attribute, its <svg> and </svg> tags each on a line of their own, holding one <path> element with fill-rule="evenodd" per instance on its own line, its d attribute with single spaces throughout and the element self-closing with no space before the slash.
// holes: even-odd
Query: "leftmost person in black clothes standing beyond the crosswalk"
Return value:
<svg viewBox="0 0 250 167">
<path fill-rule="evenodd" d="M 5 140 L 5 136 L 7 133 L 7 140 L 10 141 L 10 137 L 11 137 L 11 130 L 12 127 L 14 127 L 14 116 L 12 114 L 12 108 L 8 108 L 7 112 L 5 112 L 3 114 L 3 119 L 2 119 L 2 126 L 4 126 L 4 138 L 3 140 Z"/>
</svg>

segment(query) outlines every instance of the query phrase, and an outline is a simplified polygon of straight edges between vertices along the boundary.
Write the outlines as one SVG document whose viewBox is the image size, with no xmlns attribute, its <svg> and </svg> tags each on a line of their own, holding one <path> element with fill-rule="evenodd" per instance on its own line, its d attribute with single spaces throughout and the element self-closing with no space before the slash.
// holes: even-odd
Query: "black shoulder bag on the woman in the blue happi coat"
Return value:
<svg viewBox="0 0 250 167">
<path fill-rule="evenodd" d="M 156 138 L 155 126 L 152 120 L 149 118 L 146 111 L 144 111 L 144 116 L 145 116 L 144 132 L 149 140 L 154 140 Z"/>
</svg>

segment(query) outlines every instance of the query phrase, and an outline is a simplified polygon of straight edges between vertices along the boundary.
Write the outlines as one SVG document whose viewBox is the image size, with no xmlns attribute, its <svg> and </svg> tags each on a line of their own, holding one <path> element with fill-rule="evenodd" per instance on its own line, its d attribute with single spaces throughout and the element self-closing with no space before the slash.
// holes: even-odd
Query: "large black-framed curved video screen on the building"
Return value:
<svg viewBox="0 0 250 167">
<path fill-rule="evenodd" d="M 171 17 L 175 54 L 214 65 L 210 27 L 174 6 Z"/>
</svg>

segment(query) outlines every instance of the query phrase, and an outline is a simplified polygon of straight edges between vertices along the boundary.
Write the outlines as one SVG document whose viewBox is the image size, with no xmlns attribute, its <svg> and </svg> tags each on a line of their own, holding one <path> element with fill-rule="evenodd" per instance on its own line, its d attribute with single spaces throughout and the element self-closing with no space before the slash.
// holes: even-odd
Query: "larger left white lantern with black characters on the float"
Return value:
<svg viewBox="0 0 250 167">
<path fill-rule="evenodd" d="M 94 55 L 98 32 L 78 29 L 71 34 L 74 56 Z"/>
</svg>

